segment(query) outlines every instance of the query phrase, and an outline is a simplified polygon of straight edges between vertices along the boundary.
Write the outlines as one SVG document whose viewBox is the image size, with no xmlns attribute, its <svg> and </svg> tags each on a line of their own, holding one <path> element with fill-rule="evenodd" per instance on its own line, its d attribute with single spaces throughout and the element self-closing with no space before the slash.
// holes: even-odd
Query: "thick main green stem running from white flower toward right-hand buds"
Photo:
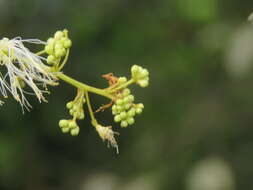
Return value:
<svg viewBox="0 0 253 190">
<path fill-rule="evenodd" d="M 87 84 L 81 83 L 81 82 L 79 82 L 79 81 L 77 81 L 77 80 L 75 80 L 75 79 L 73 79 L 73 78 L 71 78 L 71 77 L 63 74 L 62 72 L 55 72 L 54 75 L 56 77 L 58 77 L 59 79 L 65 81 L 66 83 L 69 83 L 69 84 L 71 84 L 71 85 L 73 85 L 76 88 L 79 88 L 81 90 L 92 92 L 92 93 L 95 93 L 95 94 L 107 97 L 109 99 L 113 99 L 114 98 L 106 90 L 103 90 L 103 89 L 100 89 L 100 88 L 95 88 L 95 87 L 89 86 Z"/>
</svg>

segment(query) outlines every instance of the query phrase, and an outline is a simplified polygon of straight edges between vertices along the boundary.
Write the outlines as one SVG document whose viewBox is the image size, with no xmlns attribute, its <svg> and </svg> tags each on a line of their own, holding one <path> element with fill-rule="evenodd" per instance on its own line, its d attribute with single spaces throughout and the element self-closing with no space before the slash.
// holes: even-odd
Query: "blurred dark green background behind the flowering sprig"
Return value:
<svg viewBox="0 0 253 190">
<path fill-rule="evenodd" d="M 1 190 L 235 190 L 253 186 L 252 0 L 0 0 L 2 37 L 46 40 L 67 28 L 64 72 L 104 87 L 102 74 L 150 71 L 134 126 L 116 128 L 120 154 L 89 119 L 78 137 L 62 134 L 75 90 L 31 97 L 22 114 L 0 109 Z M 106 103 L 92 95 L 94 107 Z M 97 115 L 112 124 L 110 111 Z M 116 126 L 116 125 L 115 125 Z"/>
</svg>

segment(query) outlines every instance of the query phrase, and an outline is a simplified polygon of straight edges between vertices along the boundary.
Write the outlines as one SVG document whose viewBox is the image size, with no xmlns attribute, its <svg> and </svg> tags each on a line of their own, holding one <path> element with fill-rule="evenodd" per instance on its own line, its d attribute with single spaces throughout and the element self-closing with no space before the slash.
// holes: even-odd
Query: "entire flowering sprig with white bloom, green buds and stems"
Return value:
<svg viewBox="0 0 253 190">
<path fill-rule="evenodd" d="M 34 43 L 43 45 L 43 50 L 32 53 L 23 43 Z M 112 73 L 103 75 L 108 81 L 108 87 L 100 89 L 79 82 L 62 72 L 67 63 L 72 41 L 68 37 L 68 31 L 57 31 L 47 42 L 37 39 L 23 40 L 20 37 L 14 39 L 3 38 L 0 40 L 0 66 L 4 68 L 0 71 L 0 91 L 4 98 L 8 97 L 8 92 L 12 94 L 22 108 L 31 108 L 25 94 L 34 94 L 38 100 L 46 101 L 44 93 L 49 93 L 47 86 L 58 85 L 62 80 L 77 89 L 77 95 L 67 102 L 66 108 L 71 116 L 70 119 L 59 121 L 60 129 L 63 133 L 70 133 L 72 136 L 79 134 L 80 127 L 78 120 L 85 118 L 85 106 L 91 118 L 91 124 L 95 127 L 103 141 L 115 147 L 118 152 L 118 145 L 115 139 L 117 132 L 112 130 L 112 126 L 103 126 L 95 118 L 95 113 L 103 111 L 109 107 L 112 109 L 114 121 L 122 128 L 135 123 L 135 116 L 140 115 L 144 109 L 142 103 L 134 103 L 135 97 L 129 86 L 137 84 L 144 88 L 149 85 L 149 72 L 138 65 L 131 68 L 131 78 L 116 77 Z M 46 55 L 46 56 L 43 56 Z M 3 73 L 6 72 L 6 73 Z M 30 87 L 31 91 L 26 88 Z M 93 111 L 89 93 L 95 93 L 110 99 L 110 103 L 101 106 L 96 112 Z M 1 101 L 0 104 L 3 102 Z"/>
</svg>

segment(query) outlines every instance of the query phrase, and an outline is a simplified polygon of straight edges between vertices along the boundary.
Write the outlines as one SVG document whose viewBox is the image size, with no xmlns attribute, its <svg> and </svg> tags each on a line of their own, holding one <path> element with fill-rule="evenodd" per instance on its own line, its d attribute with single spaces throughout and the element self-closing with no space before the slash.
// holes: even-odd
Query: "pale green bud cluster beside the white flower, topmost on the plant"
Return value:
<svg viewBox="0 0 253 190">
<path fill-rule="evenodd" d="M 68 31 L 57 31 L 53 38 L 47 40 L 45 51 L 48 54 L 47 63 L 56 64 L 66 55 L 67 50 L 71 47 L 72 42 L 68 38 Z"/>
</svg>

